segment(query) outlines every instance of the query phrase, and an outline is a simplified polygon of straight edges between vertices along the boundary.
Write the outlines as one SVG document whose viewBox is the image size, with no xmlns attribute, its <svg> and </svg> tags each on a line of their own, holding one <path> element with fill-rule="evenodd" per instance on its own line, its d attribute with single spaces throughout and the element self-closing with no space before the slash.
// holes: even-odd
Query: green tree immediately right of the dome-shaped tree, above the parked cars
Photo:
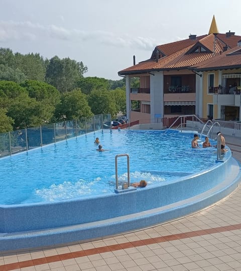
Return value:
<svg viewBox="0 0 241 271">
<path fill-rule="evenodd" d="M 117 114 L 116 104 L 110 91 L 91 91 L 88 95 L 88 103 L 94 115 L 111 114 L 111 116 L 114 117 Z"/>
</svg>

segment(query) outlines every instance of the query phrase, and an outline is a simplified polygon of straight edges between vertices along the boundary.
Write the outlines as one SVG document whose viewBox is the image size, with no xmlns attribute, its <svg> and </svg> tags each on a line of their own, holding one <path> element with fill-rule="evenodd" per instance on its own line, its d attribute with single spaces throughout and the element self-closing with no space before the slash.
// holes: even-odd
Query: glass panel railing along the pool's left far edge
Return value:
<svg viewBox="0 0 241 271">
<path fill-rule="evenodd" d="M 49 123 L 40 127 L 0 133 L 0 157 L 9 156 L 108 127 L 110 114 Z"/>
</svg>

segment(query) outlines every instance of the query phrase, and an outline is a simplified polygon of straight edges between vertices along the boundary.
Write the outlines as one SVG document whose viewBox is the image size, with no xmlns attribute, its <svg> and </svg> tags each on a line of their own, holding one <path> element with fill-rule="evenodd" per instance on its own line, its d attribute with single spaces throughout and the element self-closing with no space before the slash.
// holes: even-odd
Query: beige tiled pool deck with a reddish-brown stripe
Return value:
<svg viewBox="0 0 241 271">
<path fill-rule="evenodd" d="M 225 136 L 241 163 L 241 139 Z M 241 186 L 217 204 L 148 229 L 92 242 L 0 252 L 0 271 L 240 270 Z"/>
</svg>

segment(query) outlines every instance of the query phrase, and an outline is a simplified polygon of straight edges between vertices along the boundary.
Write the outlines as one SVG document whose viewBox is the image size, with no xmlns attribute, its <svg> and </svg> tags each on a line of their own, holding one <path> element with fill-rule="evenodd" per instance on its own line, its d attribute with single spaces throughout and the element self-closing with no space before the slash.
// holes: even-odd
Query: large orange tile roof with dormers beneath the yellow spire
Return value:
<svg viewBox="0 0 241 271">
<path fill-rule="evenodd" d="M 241 36 L 231 35 L 226 37 L 225 34 L 217 34 L 215 37 L 215 54 L 223 50 L 223 46 L 234 47 Z M 202 35 L 196 40 L 185 39 L 181 41 L 171 42 L 159 45 L 156 48 L 166 56 L 156 60 L 148 59 L 139 62 L 118 72 L 119 75 L 147 73 L 151 71 L 162 70 L 180 70 L 188 69 L 191 66 L 197 66 L 198 63 L 212 58 L 213 54 L 214 34 Z M 206 48 L 206 52 L 194 52 L 197 46 Z M 154 50 L 155 51 L 155 50 Z M 153 56 L 153 55 L 152 55 Z"/>
</svg>

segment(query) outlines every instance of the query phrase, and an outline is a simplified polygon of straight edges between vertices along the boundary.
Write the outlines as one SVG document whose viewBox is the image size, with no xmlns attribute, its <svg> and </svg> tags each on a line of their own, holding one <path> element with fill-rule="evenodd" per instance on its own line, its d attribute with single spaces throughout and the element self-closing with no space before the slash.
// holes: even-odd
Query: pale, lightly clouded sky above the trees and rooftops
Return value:
<svg viewBox="0 0 241 271">
<path fill-rule="evenodd" d="M 157 45 L 208 34 L 241 35 L 240 0 L 0 0 L 0 47 L 82 61 L 84 77 L 121 80 Z"/>
</svg>

